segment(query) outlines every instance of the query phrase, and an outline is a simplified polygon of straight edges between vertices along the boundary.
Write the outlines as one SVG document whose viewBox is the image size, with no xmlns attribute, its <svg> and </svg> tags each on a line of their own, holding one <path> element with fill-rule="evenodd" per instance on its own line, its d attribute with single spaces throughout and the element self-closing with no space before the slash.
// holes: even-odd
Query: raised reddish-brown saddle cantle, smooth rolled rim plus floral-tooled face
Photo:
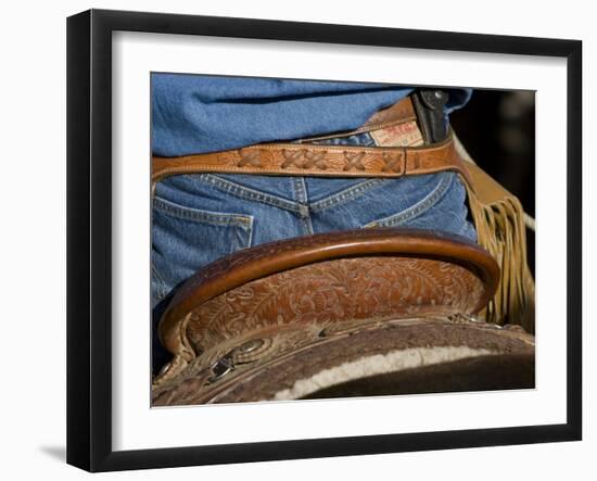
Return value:
<svg viewBox="0 0 597 481">
<path fill-rule="evenodd" d="M 154 383 L 263 331 L 319 334 L 355 322 L 474 314 L 498 278 L 479 245 L 416 229 L 315 235 L 240 251 L 200 270 L 170 302 L 160 333 L 175 357 Z"/>
</svg>

